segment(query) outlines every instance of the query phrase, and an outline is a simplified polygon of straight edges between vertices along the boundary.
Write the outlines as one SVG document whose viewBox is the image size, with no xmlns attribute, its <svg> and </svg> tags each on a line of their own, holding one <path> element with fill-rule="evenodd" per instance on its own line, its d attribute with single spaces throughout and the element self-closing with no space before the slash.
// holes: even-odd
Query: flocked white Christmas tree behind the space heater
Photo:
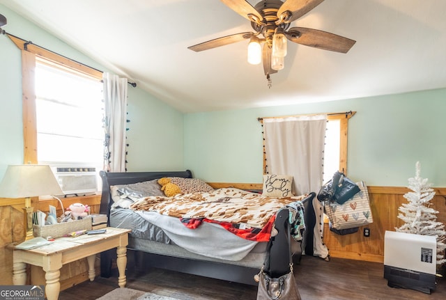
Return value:
<svg viewBox="0 0 446 300">
<path fill-rule="evenodd" d="M 420 177 L 420 161 L 415 164 L 415 177 L 409 178 L 409 191 L 404 195 L 408 203 L 402 203 L 399 207 L 398 218 L 405 223 L 397 232 L 413 233 L 415 235 L 430 235 L 437 239 L 437 264 L 446 262 L 443 251 L 446 248 L 445 225 L 437 221 L 438 211 L 434 210 L 431 200 L 435 196 L 435 191 L 431 184 L 427 183 L 427 178 Z"/>
</svg>

